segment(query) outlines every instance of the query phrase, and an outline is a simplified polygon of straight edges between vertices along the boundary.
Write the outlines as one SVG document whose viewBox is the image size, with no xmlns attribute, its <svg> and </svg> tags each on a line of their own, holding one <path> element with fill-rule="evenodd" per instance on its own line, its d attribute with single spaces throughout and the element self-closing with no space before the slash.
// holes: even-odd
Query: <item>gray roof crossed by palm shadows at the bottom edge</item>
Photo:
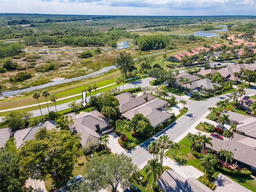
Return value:
<svg viewBox="0 0 256 192">
<path fill-rule="evenodd" d="M 212 192 L 195 178 L 185 179 L 173 170 L 165 170 L 156 184 L 166 192 Z"/>
</svg>

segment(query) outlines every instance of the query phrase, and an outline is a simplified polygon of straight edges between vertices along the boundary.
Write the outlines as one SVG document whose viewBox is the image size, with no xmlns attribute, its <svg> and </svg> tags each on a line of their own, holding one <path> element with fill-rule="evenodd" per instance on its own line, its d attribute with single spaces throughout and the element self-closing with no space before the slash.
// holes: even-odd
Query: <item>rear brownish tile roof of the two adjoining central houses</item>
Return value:
<svg viewBox="0 0 256 192">
<path fill-rule="evenodd" d="M 137 106 L 140 106 L 144 103 L 146 103 L 147 101 L 145 100 L 145 98 L 147 97 L 148 101 L 153 100 L 154 98 L 156 98 L 155 96 L 152 96 L 150 94 L 144 94 L 142 96 L 139 97 L 132 97 L 132 94 L 130 93 L 122 93 L 119 95 L 115 96 L 118 99 L 119 102 L 119 111 L 120 113 L 124 113 L 126 111 L 129 111 Z"/>
</svg>

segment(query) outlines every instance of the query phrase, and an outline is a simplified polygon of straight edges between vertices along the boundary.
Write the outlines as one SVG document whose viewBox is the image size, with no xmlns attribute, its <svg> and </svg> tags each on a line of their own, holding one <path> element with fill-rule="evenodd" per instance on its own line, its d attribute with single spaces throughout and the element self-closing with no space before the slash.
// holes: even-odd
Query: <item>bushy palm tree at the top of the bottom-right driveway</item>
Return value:
<svg viewBox="0 0 256 192">
<path fill-rule="evenodd" d="M 211 154 L 206 154 L 204 155 L 203 158 L 200 159 L 200 163 L 199 166 L 203 166 L 204 167 L 204 171 L 205 171 L 205 176 L 207 178 L 211 178 L 212 177 L 212 172 L 214 172 L 214 166 L 217 164 L 217 160 L 214 159 L 214 156 L 212 156 Z"/>
</svg>

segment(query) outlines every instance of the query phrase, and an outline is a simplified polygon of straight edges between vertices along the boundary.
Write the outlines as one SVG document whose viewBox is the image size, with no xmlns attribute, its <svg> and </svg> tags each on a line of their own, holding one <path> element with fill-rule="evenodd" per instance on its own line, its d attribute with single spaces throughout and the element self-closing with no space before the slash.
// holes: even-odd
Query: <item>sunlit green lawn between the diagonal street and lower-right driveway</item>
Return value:
<svg viewBox="0 0 256 192">
<path fill-rule="evenodd" d="M 190 141 L 188 141 L 185 137 L 178 143 L 180 144 L 180 149 L 175 151 L 174 156 L 172 156 L 171 150 L 168 150 L 165 153 L 166 156 L 168 156 L 169 158 L 171 158 L 172 160 L 174 160 L 175 162 L 182 166 L 192 165 L 198 170 L 204 172 L 203 167 L 199 166 L 200 160 L 190 153 Z"/>
</svg>

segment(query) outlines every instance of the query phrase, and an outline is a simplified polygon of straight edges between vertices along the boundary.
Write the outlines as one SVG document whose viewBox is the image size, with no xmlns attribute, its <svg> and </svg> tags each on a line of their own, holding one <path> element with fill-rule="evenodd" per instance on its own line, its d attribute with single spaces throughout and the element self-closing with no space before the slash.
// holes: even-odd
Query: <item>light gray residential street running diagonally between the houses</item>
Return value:
<svg viewBox="0 0 256 192">
<path fill-rule="evenodd" d="M 246 89 L 246 95 L 254 95 L 256 94 L 256 89 Z M 171 95 L 171 94 L 169 94 Z M 220 100 L 227 99 L 230 94 L 224 94 L 222 96 L 216 96 L 214 98 L 210 98 L 204 101 L 192 101 L 188 100 L 187 96 L 177 96 L 177 101 L 180 100 L 186 100 L 188 106 L 188 112 L 176 122 L 172 123 L 170 126 L 168 126 L 165 130 L 162 132 L 159 132 L 155 137 L 150 138 L 146 142 L 140 144 L 136 148 L 133 148 L 132 150 L 127 152 L 127 156 L 132 158 L 132 162 L 136 164 L 137 166 L 140 166 L 150 158 L 152 158 L 152 155 L 148 153 L 147 147 L 150 144 L 150 141 L 156 140 L 160 135 L 167 134 L 171 140 L 176 140 L 179 136 L 181 136 L 184 132 L 186 132 L 197 120 L 199 120 L 203 114 L 205 114 L 208 111 L 209 107 L 212 107 L 216 104 L 216 102 Z"/>
</svg>

